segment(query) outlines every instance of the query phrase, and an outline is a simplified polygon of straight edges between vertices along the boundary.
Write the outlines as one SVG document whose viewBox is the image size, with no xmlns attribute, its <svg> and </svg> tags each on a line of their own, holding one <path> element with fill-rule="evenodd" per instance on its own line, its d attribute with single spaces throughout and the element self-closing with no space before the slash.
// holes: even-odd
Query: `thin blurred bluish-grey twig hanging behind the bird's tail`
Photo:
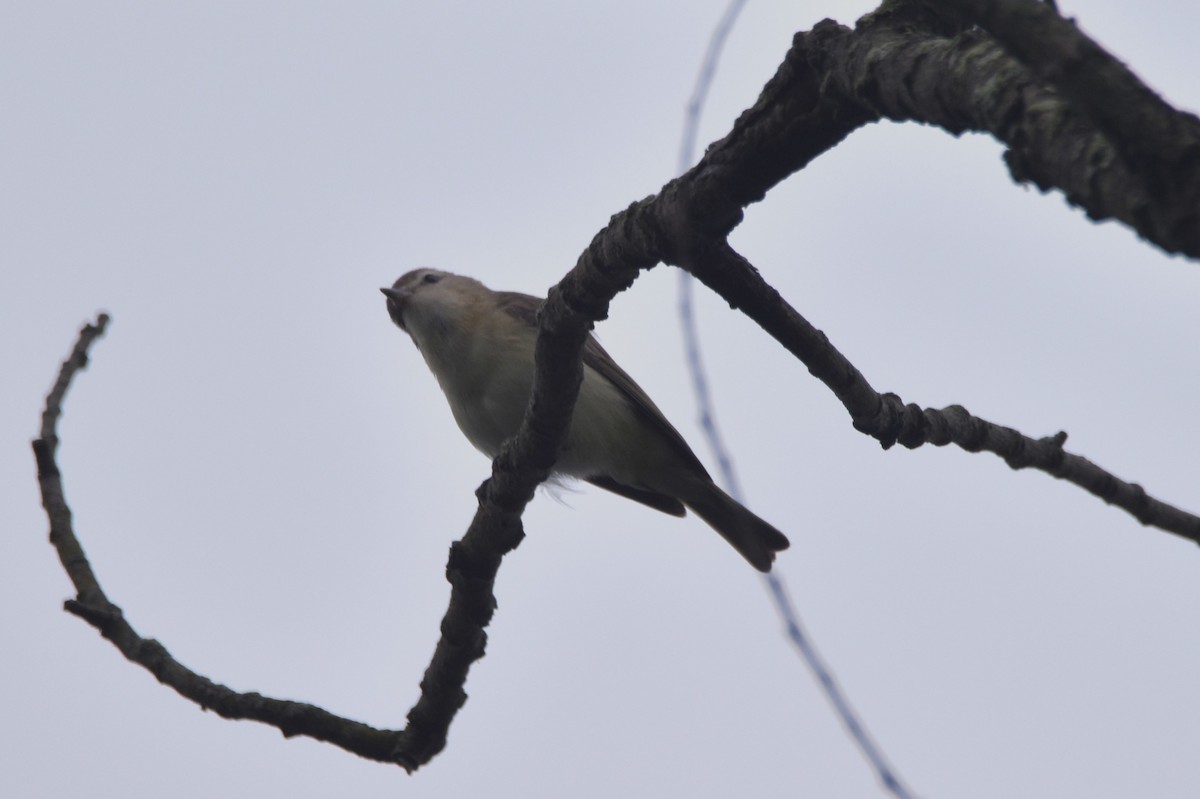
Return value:
<svg viewBox="0 0 1200 799">
<path fill-rule="evenodd" d="M 691 100 L 688 102 L 688 110 L 684 116 L 683 140 L 679 146 L 678 174 L 683 174 L 691 167 L 696 149 L 696 136 L 700 128 L 700 116 L 704 108 L 704 100 L 708 96 L 708 90 L 713 83 L 713 76 L 716 73 L 716 62 L 720 58 L 721 48 L 725 46 L 725 40 L 728 38 L 730 31 L 733 29 L 733 24 L 737 22 L 738 14 L 742 12 L 742 7 L 745 6 L 745 2 L 746 0 L 731 0 L 730 5 L 725 10 L 725 14 L 716 24 L 716 29 L 713 31 L 713 36 L 708 42 L 708 52 L 704 53 L 704 61 L 701 65 L 700 74 L 696 76 L 696 86 L 692 90 Z M 684 348 L 688 354 L 688 367 L 691 373 L 692 391 L 696 395 L 696 404 L 700 409 L 700 425 L 703 428 L 704 438 L 708 439 L 708 445 L 716 458 L 721 480 L 725 482 L 730 495 L 739 503 L 745 504 L 742 497 L 742 488 L 738 485 L 737 475 L 733 470 L 733 461 L 731 459 L 728 450 L 725 447 L 725 443 L 721 439 L 721 433 L 716 427 L 712 395 L 708 390 L 708 378 L 704 374 L 704 366 L 700 355 L 700 334 L 696 329 L 696 317 L 692 311 L 691 294 L 692 277 L 686 271 L 680 270 L 679 324 L 683 328 Z M 791 639 L 792 645 L 799 650 L 805 665 L 809 667 L 809 671 L 816 678 L 821 690 L 824 692 L 826 698 L 841 719 L 842 726 L 854 739 L 854 744 L 858 746 L 859 751 L 863 752 L 863 756 L 871 764 L 871 768 L 875 769 L 880 782 L 883 785 L 884 789 L 890 792 L 898 799 L 911 799 L 912 794 L 900 781 L 900 777 L 892 769 L 892 767 L 888 765 L 888 762 L 883 757 L 883 752 L 880 751 L 880 747 L 871 739 L 853 708 L 850 707 L 850 701 L 838 685 L 833 672 L 822 660 L 820 653 L 817 653 L 812 641 L 805 635 L 804 627 L 800 626 L 799 613 L 792 603 L 791 597 L 787 595 L 784 581 L 775 575 L 775 572 L 768 572 L 763 577 L 767 581 L 767 587 L 770 589 L 772 599 L 775 602 L 775 609 L 784 620 L 784 625 L 787 630 L 787 637 Z"/>
</svg>

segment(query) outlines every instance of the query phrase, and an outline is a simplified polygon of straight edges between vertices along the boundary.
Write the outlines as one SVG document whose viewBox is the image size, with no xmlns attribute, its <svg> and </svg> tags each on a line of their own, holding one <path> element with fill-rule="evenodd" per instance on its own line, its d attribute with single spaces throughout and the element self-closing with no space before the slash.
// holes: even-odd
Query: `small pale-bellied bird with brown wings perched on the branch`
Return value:
<svg viewBox="0 0 1200 799">
<path fill-rule="evenodd" d="M 380 289 L 412 336 L 467 439 L 490 458 L 516 434 L 533 391 L 542 300 L 416 269 Z M 583 346 L 583 384 L 556 476 L 587 480 L 672 516 L 690 507 L 760 571 L 787 537 L 721 491 L 646 392 L 596 340 Z"/>
</svg>

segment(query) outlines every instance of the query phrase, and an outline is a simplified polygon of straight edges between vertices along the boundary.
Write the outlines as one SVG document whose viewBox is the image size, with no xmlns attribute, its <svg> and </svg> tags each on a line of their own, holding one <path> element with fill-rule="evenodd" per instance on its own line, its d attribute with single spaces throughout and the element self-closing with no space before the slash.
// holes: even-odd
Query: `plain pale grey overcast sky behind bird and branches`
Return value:
<svg viewBox="0 0 1200 799">
<path fill-rule="evenodd" d="M 0 8 L 0 792 L 13 797 L 864 797 L 874 776 L 757 575 L 695 518 L 539 494 L 488 655 L 413 777 L 200 713 L 61 612 L 29 439 L 62 422 L 112 599 L 239 690 L 401 726 L 449 543 L 488 464 L 377 288 L 416 265 L 542 293 L 672 174 L 724 0 L 25 2 Z M 1200 12 L 1062 4 L 1200 107 Z M 796 30 L 869 2 L 751 2 L 700 140 Z M 966 404 L 1193 511 L 1200 268 L 1001 150 L 880 125 L 748 212 L 734 245 L 881 390 Z M 673 271 L 599 334 L 702 458 Z M 752 324 L 700 302 L 749 505 L 817 644 L 924 797 L 1200 791 L 1200 552 L 1045 475 L 882 452 Z"/>
</svg>

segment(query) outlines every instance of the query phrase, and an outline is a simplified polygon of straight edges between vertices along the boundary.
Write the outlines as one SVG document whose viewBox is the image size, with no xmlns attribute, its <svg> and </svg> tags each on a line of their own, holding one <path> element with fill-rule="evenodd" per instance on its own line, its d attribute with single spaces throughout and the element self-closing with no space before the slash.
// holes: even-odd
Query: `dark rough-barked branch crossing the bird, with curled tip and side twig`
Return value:
<svg viewBox="0 0 1200 799">
<path fill-rule="evenodd" d="M 959 407 L 920 409 L 905 405 L 895 395 L 878 394 L 726 241 L 744 209 L 773 186 L 856 128 L 894 119 L 930 122 L 952 133 L 990 132 L 1007 144 L 1006 158 L 1018 180 L 1058 188 L 1093 218 L 1120 220 L 1168 252 L 1200 256 L 1194 199 L 1200 181 L 1189 178 L 1187 186 L 1175 186 L 1164 180 L 1164 175 L 1195 173 L 1195 149 L 1183 138 L 1194 130 L 1193 118 L 1165 103 L 1146 116 L 1132 110 L 1128 119 L 1134 122 L 1128 124 L 1123 116 L 1099 113 L 1097 104 L 1104 95 L 1097 91 L 1105 86 L 1079 76 L 1070 54 L 1056 61 L 1057 40 L 1034 37 L 1027 49 L 1010 41 L 1020 38 L 1025 28 L 1006 14 L 1028 4 L 947 0 L 943 5 L 976 14 L 984 30 L 964 30 L 937 14 L 907 13 L 912 4 L 888 2 L 864 17 L 856 30 L 826 20 L 810 32 L 797 34 L 776 74 L 731 132 L 656 196 L 613 216 L 550 292 L 539 314 L 538 377 L 530 405 L 520 433 L 505 445 L 492 464 L 491 479 L 476 492 L 479 509 L 470 528 L 451 547 L 446 565 L 451 597 L 442 638 L 404 729 L 377 729 L 310 704 L 240 693 L 214 683 L 180 665 L 160 643 L 139 637 L 104 595 L 74 535 L 55 461 L 62 401 L 86 364 L 89 346 L 103 332 L 103 316 L 83 330 L 64 364 L 47 397 L 41 438 L 34 441 L 50 540 L 77 590 L 66 608 L 160 681 L 223 717 L 270 723 L 284 735 L 308 735 L 415 770 L 445 746 L 450 722 L 466 702 L 467 672 L 484 655 L 484 630 L 496 608 L 497 570 L 521 542 L 521 513 L 550 473 L 570 421 L 587 331 L 605 318 L 618 292 L 658 263 L 691 271 L 755 319 L 829 386 L 856 428 L 886 447 L 954 443 L 967 451 L 991 451 L 1014 468 L 1038 468 L 1084 487 L 1146 524 L 1200 540 L 1200 518 L 1064 452 L 1062 433 L 1032 439 Z M 1085 47 L 1078 41 L 1075 46 Z M 1091 64 L 1094 53 L 1085 50 L 1085 61 Z M 1157 101 L 1152 92 L 1147 97 L 1127 84 L 1118 86 L 1126 92 L 1118 97 L 1132 97 L 1130 102 L 1147 108 Z M 1178 136 L 1178 146 L 1147 155 L 1135 140 L 1141 119 L 1157 120 L 1153 136 Z"/>
</svg>

